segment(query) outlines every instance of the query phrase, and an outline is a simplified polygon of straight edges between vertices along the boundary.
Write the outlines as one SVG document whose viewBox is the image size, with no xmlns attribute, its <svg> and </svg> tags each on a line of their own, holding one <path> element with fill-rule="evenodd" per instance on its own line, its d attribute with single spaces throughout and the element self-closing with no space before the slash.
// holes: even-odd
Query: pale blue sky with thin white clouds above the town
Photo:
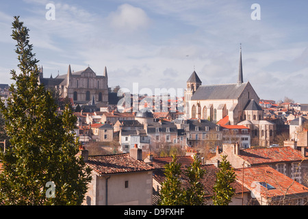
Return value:
<svg viewBox="0 0 308 219">
<path fill-rule="evenodd" d="M 66 74 L 68 64 L 97 75 L 106 66 L 110 87 L 140 94 L 183 90 L 194 70 L 202 85 L 236 83 L 242 44 L 244 82 L 260 99 L 308 103 L 307 7 L 303 0 L 0 1 L 0 83 L 14 83 L 10 70 L 18 70 L 10 35 L 20 16 L 44 77 Z"/>
</svg>

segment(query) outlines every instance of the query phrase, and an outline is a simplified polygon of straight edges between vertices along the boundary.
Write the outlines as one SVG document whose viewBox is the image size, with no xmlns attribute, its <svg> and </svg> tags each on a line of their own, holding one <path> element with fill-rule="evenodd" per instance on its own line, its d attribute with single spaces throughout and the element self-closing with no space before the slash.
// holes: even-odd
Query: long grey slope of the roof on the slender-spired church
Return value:
<svg viewBox="0 0 308 219">
<path fill-rule="evenodd" d="M 195 100 L 238 99 L 248 83 L 227 83 L 211 86 L 200 86 L 192 95 Z"/>
</svg>

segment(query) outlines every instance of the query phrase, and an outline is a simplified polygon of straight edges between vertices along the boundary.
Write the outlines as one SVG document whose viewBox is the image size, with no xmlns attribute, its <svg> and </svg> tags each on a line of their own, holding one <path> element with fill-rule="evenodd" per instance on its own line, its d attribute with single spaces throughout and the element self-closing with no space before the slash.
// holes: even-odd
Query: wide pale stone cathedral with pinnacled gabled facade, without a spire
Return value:
<svg viewBox="0 0 308 219">
<path fill-rule="evenodd" d="M 43 68 L 40 67 L 38 81 L 45 88 L 55 89 L 60 97 L 73 99 L 74 103 L 86 104 L 90 101 L 108 103 L 108 76 L 105 67 L 103 75 L 97 75 L 88 66 L 84 70 L 72 72 L 70 65 L 64 75 L 53 78 L 43 77 Z"/>
</svg>

